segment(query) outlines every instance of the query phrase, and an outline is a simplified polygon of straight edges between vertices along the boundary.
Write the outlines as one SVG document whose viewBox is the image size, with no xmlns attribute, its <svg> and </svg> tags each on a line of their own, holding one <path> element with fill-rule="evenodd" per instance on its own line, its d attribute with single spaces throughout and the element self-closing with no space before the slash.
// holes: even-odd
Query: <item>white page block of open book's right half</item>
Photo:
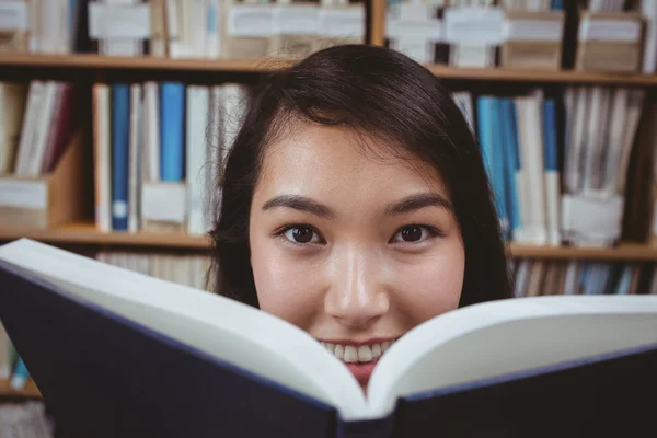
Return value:
<svg viewBox="0 0 657 438">
<path fill-rule="evenodd" d="M 540 296 L 462 308 L 395 342 L 369 383 L 397 397 L 657 343 L 657 296 Z"/>
</svg>

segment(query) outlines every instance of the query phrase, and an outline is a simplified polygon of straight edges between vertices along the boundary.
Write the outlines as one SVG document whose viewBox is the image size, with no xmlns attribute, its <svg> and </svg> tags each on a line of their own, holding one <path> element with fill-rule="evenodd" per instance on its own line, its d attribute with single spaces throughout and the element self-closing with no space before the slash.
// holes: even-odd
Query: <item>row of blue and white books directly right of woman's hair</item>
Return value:
<svg viewBox="0 0 657 438">
<path fill-rule="evenodd" d="M 454 97 L 479 138 L 507 241 L 611 246 L 620 239 L 643 89 Z"/>
</svg>

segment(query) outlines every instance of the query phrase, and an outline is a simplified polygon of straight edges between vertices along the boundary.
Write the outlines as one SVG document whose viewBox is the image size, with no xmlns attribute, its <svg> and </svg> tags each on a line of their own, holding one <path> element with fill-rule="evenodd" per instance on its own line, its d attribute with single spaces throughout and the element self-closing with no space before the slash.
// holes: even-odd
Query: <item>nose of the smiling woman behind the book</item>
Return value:
<svg viewBox="0 0 657 438">
<path fill-rule="evenodd" d="M 376 253 L 353 247 L 336 256 L 324 299 L 328 315 L 353 328 L 366 328 L 389 310 L 381 261 Z"/>
</svg>

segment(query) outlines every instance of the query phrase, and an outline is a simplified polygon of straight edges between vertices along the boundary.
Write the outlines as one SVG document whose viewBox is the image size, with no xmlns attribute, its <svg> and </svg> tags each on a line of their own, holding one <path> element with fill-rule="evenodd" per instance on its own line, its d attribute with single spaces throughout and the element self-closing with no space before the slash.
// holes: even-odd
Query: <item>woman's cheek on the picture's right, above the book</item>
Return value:
<svg viewBox="0 0 657 438">
<path fill-rule="evenodd" d="M 460 243 L 397 269 L 395 300 L 413 325 L 458 308 L 464 270 L 465 254 Z"/>
</svg>

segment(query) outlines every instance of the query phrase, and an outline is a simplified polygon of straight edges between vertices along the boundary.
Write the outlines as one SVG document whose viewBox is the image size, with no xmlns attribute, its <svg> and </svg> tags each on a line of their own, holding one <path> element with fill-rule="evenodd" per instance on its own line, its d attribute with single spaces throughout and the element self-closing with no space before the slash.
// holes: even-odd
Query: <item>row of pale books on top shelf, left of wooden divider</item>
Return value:
<svg viewBox="0 0 657 438">
<path fill-rule="evenodd" d="M 365 5 L 358 0 L 30 0 L 0 5 L 0 20 L 2 12 L 7 16 L 2 51 L 216 59 L 304 56 L 335 44 L 365 43 Z"/>
</svg>

